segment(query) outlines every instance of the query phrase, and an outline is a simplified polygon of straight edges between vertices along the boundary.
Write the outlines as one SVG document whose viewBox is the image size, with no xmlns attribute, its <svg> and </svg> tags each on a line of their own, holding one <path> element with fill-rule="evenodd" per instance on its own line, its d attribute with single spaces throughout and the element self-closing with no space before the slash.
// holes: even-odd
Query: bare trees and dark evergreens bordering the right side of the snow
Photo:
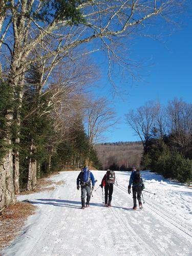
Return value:
<svg viewBox="0 0 192 256">
<path fill-rule="evenodd" d="M 167 106 L 147 102 L 127 114 L 140 136 L 144 168 L 189 184 L 192 181 L 192 104 L 174 99 Z"/>
</svg>

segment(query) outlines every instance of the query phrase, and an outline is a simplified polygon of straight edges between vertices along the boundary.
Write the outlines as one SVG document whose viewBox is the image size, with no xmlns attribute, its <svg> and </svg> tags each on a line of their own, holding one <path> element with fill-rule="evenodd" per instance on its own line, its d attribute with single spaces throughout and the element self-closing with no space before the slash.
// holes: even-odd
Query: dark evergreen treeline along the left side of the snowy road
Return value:
<svg viewBox="0 0 192 256">
<path fill-rule="evenodd" d="M 17 194 L 20 189 L 33 189 L 36 179 L 42 176 L 66 168 L 79 168 L 87 161 L 89 139 L 82 123 L 83 115 L 79 112 L 80 104 L 70 95 L 69 109 L 60 115 L 57 112 L 58 101 L 49 104 L 52 93 L 51 89 L 47 89 L 39 95 L 36 86 L 26 83 L 19 109 L 19 123 L 18 118 L 8 121 L 8 110 L 12 109 L 14 113 L 18 103 L 12 99 L 13 92 L 9 84 L 0 81 L 0 159 L 3 160 L 12 146 L 14 187 Z M 8 135 L 10 143 L 5 139 Z M 92 146 L 89 161 L 99 167 Z"/>
</svg>

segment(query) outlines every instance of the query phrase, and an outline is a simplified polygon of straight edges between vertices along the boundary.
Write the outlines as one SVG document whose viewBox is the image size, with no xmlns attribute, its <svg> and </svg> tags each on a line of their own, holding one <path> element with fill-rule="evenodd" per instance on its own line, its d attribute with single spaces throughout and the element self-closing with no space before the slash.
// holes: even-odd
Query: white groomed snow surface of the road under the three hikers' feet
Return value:
<svg viewBox="0 0 192 256">
<path fill-rule="evenodd" d="M 132 210 L 127 194 L 129 172 L 116 172 L 112 207 L 102 204 L 102 190 L 94 191 L 90 207 L 81 209 L 76 189 L 79 171 L 61 172 L 65 180 L 54 191 L 18 197 L 38 206 L 23 233 L 3 255 L 192 255 L 192 188 L 142 171 L 143 210 Z M 93 171 L 97 188 L 105 171 Z M 104 189 L 103 189 L 104 194 Z"/>
</svg>

